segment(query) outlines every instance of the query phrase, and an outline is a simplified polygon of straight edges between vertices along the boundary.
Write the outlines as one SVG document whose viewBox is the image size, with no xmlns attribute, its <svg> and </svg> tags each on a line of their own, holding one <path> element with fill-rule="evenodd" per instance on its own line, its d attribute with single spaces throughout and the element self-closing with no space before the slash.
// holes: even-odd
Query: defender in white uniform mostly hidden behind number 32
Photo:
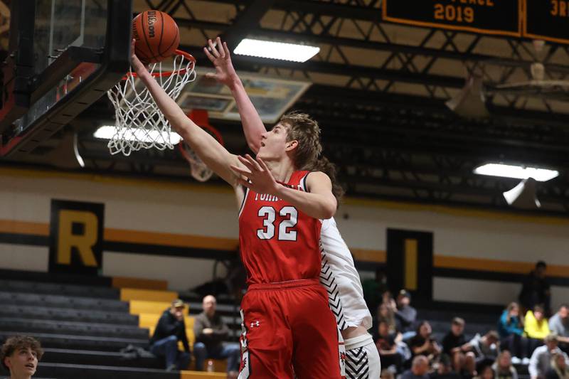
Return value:
<svg viewBox="0 0 569 379">
<path fill-rule="evenodd" d="M 235 73 L 226 43 L 222 44 L 218 37 L 216 46 L 212 41 L 208 41 L 208 45 L 210 47 L 204 48 L 204 52 L 215 66 L 216 73 L 208 73 L 206 76 L 218 80 L 231 91 L 243 123 L 245 138 L 250 149 L 257 154 L 262 144 L 261 135 L 266 132 L 265 125 Z M 225 54 L 220 54 L 221 49 Z M 326 172 L 323 167 L 318 169 Z M 334 218 L 322 220 L 320 245 L 320 282 L 328 291 L 330 309 L 336 316 L 344 338 L 346 378 L 378 379 L 381 373 L 379 354 L 368 333 L 372 323 L 371 314 L 363 300 L 360 277 L 353 265 L 350 250 L 342 239 Z"/>
</svg>

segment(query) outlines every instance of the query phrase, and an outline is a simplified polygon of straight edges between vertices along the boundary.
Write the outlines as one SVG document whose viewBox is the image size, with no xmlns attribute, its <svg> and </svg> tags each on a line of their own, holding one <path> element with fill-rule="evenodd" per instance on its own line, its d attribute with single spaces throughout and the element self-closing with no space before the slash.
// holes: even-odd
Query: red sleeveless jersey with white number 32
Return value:
<svg viewBox="0 0 569 379">
<path fill-rule="evenodd" d="M 290 188 L 306 191 L 309 171 L 294 171 Z M 287 201 L 247 189 L 239 214 L 241 259 L 248 284 L 318 279 L 321 221 Z"/>
</svg>

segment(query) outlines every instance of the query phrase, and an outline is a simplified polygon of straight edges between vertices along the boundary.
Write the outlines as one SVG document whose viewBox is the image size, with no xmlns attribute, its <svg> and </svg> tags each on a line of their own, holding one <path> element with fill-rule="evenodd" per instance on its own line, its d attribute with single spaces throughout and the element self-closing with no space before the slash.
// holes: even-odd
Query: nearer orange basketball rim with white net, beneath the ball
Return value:
<svg viewBox="0 0 569 379">
<path fill-rule="evenodd" d="M 196 79 L 196 59 L 176 50 L 172 69 L 162 71 L 162 63 L 149 66 L 149 73 L 174 101 L 188 82 Z M 129 156 L 132 151 L 150 149 L 174 149 L 171 127 L 160 111 L 149 90 L 129 70 L 107 95 L 115 107 L 115 134 L 107 146 L 111 154 Z"/>
</svg>

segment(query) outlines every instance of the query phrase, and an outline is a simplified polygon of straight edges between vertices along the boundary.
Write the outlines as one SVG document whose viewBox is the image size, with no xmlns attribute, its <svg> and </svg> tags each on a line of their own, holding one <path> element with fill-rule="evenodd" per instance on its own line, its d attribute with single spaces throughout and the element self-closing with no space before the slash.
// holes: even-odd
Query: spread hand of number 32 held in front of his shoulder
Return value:
<svg viewBox="0 0 569 379">
<path fill-rule="evenodd" d="M 267 164 L 265 164 L 262 159 L 257 158 L 255 160 L 249 154 L 245 154 L 245 157 L 238 156 L 238 159 L 247 169 L 235 165 L 231 165 L 231 169 L 239 176 L 245 176 L 248 178 L 248 180 L 243 178 L 238 179 L 242 186 L 250 188 L 256 193 L 267 193 L 273 196 L 277 195 L 280 184 L 275 181 L 275 178 L 272 176 L 271 171 L 269 171 Z"/>
</svg>

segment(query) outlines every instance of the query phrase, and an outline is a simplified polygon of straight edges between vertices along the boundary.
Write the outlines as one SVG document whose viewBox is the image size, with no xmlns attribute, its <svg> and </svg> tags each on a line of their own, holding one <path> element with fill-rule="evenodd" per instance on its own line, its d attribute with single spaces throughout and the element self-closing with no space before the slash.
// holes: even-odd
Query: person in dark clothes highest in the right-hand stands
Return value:
<svg viewBox="0 0 569 379">
<path fill-rule="evenodd" d="M 541 260 L 536 263 L 536 268 L 523 281 L 519 301 L 525 309 L 533 309 L 537 304 L 542 304 L 548 316 L 551 314 L 551 291 L 546 270 L 546 262 Z"/>
</svg>

